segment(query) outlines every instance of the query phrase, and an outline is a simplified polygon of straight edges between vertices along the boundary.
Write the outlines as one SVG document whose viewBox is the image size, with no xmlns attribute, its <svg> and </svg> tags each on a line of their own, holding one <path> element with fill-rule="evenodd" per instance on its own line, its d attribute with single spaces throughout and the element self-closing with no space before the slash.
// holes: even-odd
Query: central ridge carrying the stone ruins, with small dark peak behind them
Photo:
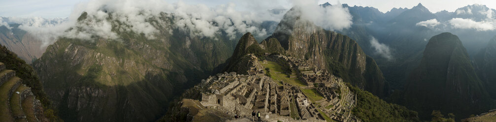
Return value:
<svg viewBox="0 0 496 122">
<path fill-rule="evenodd" d="M 335 85 L 329 85 L 329 84 L 334 84 L 336 82 L 340 82 L 339 80 L 321 81 L 322 83 L 325 82 L 326 85 L 322 85 L 322 86 L 317 85 L 314 86 L 313 88 L 318 89 L 317 91 L 322 92 L 323 94 L 327 94 L 329 90 L 323 90 L 321 89 L 321 87 L 325 88 L 325 87 L 334 87 L 336 85 L 339 85 L 339 87 L 341 87 L 341 90 L 343 91 L 339 90 L 335 92 L 335 94 L 336 93 L 340 94 L 340 97 L 338 99 L 345 99 L 345 98 L 349 99 L 349 97 L 346 97 L 347 95 L 342 95 L 342 93 L 350 93 L 352 94 L 352 96 L 356 96 L 356 97 L 352 97 L 352 99 L 354 98 L 353 99 L 355 101 L 354 103 L 346 103 L 348 100 L 342 101 L 342 100 L 334 99 L 335 97 L 329 98 L 329 96 L 325 96 L 325 98 L 327 98 L 328 100 L 342 101 L 345 102 L 347 106 L 350 106 L 352 110 L 348 115 L 345 114 L 347 116 L 344 117 L 339 116 L 340 114 L 336 116 L 337 113 L 328 111 L 329 109 L 331 110 L 340 109 L 340 108 L 332 107 L 332 106 L 340 106 L 335 102 L 314 102 L 313 104 L 310 104 L 310 106 L 318 105 L 315 107 L 310 107 L 310 109 L 308 109 L 310 110 L 310 115 L 312 115 L 314 118 L 308 118 L 304 116 L 304 111 L 307 111 L 307 109 L 305 108 L 304 109 L 300 108 L 299 110 L 297 110 L 296 108 L 290 110 L 284 110 L 284 108 L 289 109 L 287 107 L 283 107 L 283 105 L 287 103 L 283 101 L 284 96 L 288 95 L 288 93 L 291 94 L 293 92 L 299 92 L 298 87 L 307 87 L 307 86 L 306 85 L 298 86 L 292 83 L 277 84 L 275 83 L 276 80 L 274 80 L 274 78 L 277 77 L 272 77 L 275 74 L 273 74 L 272 76 L 270 75 L 265 76 L 263 74 L 262 75 L 249 74 L 249 72 L 253 72 L 253 71 L 263 72 L 262 71 L 264 69 L 263 67 L 266 66 L 269 66 L 267 67 L 267 69 L 273 68 L 267 64 L 267 62 L 269 61 L 278 60 L 279 63 L 284 64 L 284 62 L 286 61 L 288 61 L 286 63 L 289 63 L 291 62 L 290 61 L 291 59 L 295 59 L 289 56 L 281 56 L 279 54 L 283 54 L 283 53 L 279 53 L 277 52 L 277 50 L 270 51 L 271 50 L 270 48 L 263 48 L 263 47 L 268 47 L 264 43 L 274 43 L 275 45 L 273 46 L 275 48 L 282 48 L 280 45 L 277 46 L 278 44 L 277 39 L 271 38 L 269 39 L 269 41 L 264 40 L 259 44 L 256 42 L 257 41 L 254 40 L 253 35 L 251 35 L 250 33 L 245 34 L 240 39 L 238 45 L 236 46 L 235 49 L 236 51 L 233 53 L 233 56 L 231 57 L 231 59 L 234 59 L 235 61 L 230 61 L 228 64 L 227 69 L 228 71 L 232 71 L 232 72 L 231 73 L 225 72 L 225 73 L 217 74 L 216 76 L 210 76 L 210 78 L 202 80 L 201 83 L 186 90 L 186 92 L 183 93 L 180 99 L 175 100 L 176 104 L 170 108 L 169 113 L 166 116 L 164 116 L 162 119 L 158 120 L 158 122 L 182 122 L 182 121 L 195 122 L 195 121 L 212 121 L 212 120 L 220 120 L 220 121 L 248 120 L 249 121 L 250 120 L 249 114 L 252 109 L 260 111 L 262 113 L 262 116 L 270 115 L 269 118 L 264 118 L 264 121 L 279 120 L 279 121 L 291 122 L 291 121 L 295 121 L 294 120 L 295 118 L 298 118 L 298 120 L 303 119 L 306 121 L 318 121 L 318 120 L 331 121 L 330 118 L 338 121 L 345 119 L 343 120 L 345 122 L 360 121 L 360 120 L 364 122 L 385 122 L 385 121 L 419 122 L 420 121 L 417 116 L 417 112 L 408 110 L 404 106 L 386 103 L 385 101 L 379 99 L 377 96 L 373 95 L 372 93 L 368 91 L 364 91 L 356 86 L 353 86 L 350 83 L 338 83 Z M 258 52 L 267 52 L 267 53 L 272 52 L 272 54 L 264 55 L 262 53 L 259 54 L 260 56 L 255 56 L 257 55 L 256 53 Z M 288 60 L 277 59 L 277 57 L 279 58 L 283 57 Z M 279 63 L 276 65 L 279 65 Z M 306 63 L 308 62 L 300 62 L 299 64 L 302 65 Z M 229 68 L 231 66 L 233 68 Z M 304 66 L 313 67 L 312 65 L 308 65 L 308 64 Z M 271 69 L 269 72 L 272 71 L 279 72 L 277 69 Z M 296 72 L 295 74 L 301 75 L 300 72 Z M 326 73 L 322 73 L 321 75 L 315 75 L 315 76 L 325 77 L 325 75 L 323 74 Z M 340 79 L 339 77 L 334 77 L 334 78 Z M 263 81 L 263 85 L 261 81 Z M 287 81 L 283 81 L 283 82 L 287 82 Z M 310 80 L 310 82 L 317 82 L 317 81 Z M 259 88 L 261 87 L 259 87 L 257 83 L 260 83 L 261 86 L 267 88 L 267 91 L 265 92 L 265 90 L 263 89 L 259 90 Z M 252 86 L 256 86 L 256 87 L 251 88 Z M 288 87 L 292 87 L 292 88 L 288 88 Z M 215 89 L 220 89 L 220 92 L 219 90 L 213 92 L 215 91 Z M 226 92 L 225 89 L 227 89 L 230 92 Z M 305 92 L 303 93 L 307 94 Z M 214 94 L 217 96 L 216 97 L 217 104 L 215 103 L 215 101 L 212 102 L 209 100 L 211 98 L 210 94 Z M 266 102 L 265 105 L 262 103 L 263 101 L 255 102 L 254 103 L 255 106 L 261 106 L 261 107 L 253 106 L 253 104 L 250 103 L 252 100 L 249 99 L 253 99 L 253 97 L 251 96 L 253 96 L 254 94 L 258 94 L 255 97 L 256 101 L 259 101 L 259 97 L 260 97 L 262 99 L 263 98 L 268 99 L 268 102 Z M 269 95 L 269 94 L 271 94 L 270 97 L 265 97 L 265 95 Z M 273 95 L 275 94 L 277 95 L 273 97 Z M 222 98 L 220 98 L 219 96 L 221 96 Z M 345 96 L 345 97 L 341 97 L 341 96 Z M 298 96 L 298 97 L 305 97 L 305 96 Z M 273 98 L 277 98 L 279 100 Z M 290 95 L 289 98 L 291 101 L 290 103 L 292 103 L 294 101 L 292 101 L 291 99 L 296 98 L 296 95 Z M 310 100 L 312 99 L 310 98 Z M 232 103 L 233 101 L 235 102 Z M 236 101 L 240 101 L 240 102 L 236 102 Z M 277 101 L 277 102 L 272 102 L 272 101 Z M 322 99 L 320 101 L 326 101 L 326 100 Z M 322 103 L 326 104 L 326 106 L 330 104 L 329 106 L 330 108 L 321 106 Z M 241 104 L 241 105 L 244 104 L 244 105 L 237 106 L 237 104 Z M 303 104 L 305 103 L 299 101 L 297 105 L 300 105 L 298 107 L 302 107 Z M 211 107 L 207 107 L 207 106 L 211 106 Z M 267 109 L 263 109 L 263 108 L 267 108 Z M 281 109 L 281 111 L 279 111 L 279 109 Z M 315 109 L 319 109 L 319 110 L 315 110 Z M 347 113 L 348 111 L 350 111 L 350 108 L 345 107 L 343 109 L 340 109 L 340 111 Z M 275 112 L 275 113 L 271 113 L 271 112 Z M 290 113 L 296 113 L 296 115 Z M 241 118 L 234 119 L 233 116 L 235 114 L 241 115 Z M 320 116 L 317 116 L 317 114 L 320 114 Z M 299 115 L 301 115 L 302 118 L 300 118 Z"/>
</svg>

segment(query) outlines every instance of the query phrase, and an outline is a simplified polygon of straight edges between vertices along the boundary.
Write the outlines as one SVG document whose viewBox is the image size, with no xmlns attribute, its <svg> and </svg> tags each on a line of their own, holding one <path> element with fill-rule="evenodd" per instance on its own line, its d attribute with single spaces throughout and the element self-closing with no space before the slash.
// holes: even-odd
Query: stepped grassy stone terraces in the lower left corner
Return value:
<svg viewBox="0 0 496 122">
<path fill-rule="evenodd" d="M 31 88 L 0 62 L 0 122 L 40 122 L 41 108 Z"/>
</svg>

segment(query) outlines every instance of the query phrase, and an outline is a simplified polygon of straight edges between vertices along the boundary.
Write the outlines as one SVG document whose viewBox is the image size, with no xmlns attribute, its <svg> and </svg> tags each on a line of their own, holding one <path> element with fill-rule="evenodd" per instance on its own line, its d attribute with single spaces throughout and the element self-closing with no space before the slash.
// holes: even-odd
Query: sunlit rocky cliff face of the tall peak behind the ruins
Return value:
<svg viewBox="0 0 496 122">
<path fill-rule="evenodd" d="M 268 39 L 277 39 L 286 55 L 309 60 L 320 69 L 384 96 L 387 90 L 382 73 L 356 41 L 300 19 L 300 14 L 298 8 L 289 10 Z"/>
</svg>

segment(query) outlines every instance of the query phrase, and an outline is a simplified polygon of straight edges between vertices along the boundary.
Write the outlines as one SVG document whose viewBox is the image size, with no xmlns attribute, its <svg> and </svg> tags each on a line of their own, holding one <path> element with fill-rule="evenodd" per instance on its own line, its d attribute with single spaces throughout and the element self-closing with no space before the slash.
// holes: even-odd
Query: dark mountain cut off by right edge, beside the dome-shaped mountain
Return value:
<svg viewBox="0 0 496 122">
<path fill-rule="evenodd" d="M 481 81 L 493 99 L 496 99 L 496 36 L 474 56 L 475 68 Z"/>
</svg>

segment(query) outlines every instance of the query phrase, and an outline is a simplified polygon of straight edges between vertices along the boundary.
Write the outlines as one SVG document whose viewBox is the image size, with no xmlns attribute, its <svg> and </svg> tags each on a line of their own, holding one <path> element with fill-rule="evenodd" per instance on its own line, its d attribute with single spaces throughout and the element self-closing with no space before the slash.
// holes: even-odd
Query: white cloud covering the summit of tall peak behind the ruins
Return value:
<svg viewBox="0 0 496 122">
<path fill-rule="evenodd" d="M 293 0 L 295 7 L 301 11 L 301 18 L 310 20 L 317 26 L 331 31 L 341 31 L 351 27 L 353 16 L 348 8 L 339 3 L 324 7 L 317 2 L 318 0 Z"/>
</svg>

